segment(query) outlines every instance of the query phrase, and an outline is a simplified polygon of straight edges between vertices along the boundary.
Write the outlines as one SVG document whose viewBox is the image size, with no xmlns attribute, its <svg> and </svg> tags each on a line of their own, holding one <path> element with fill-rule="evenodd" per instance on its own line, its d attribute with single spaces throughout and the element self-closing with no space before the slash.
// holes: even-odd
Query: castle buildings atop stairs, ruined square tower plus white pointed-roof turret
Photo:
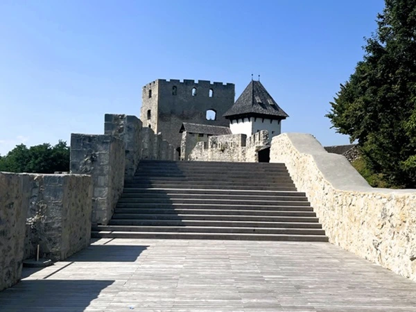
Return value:
<svg viewBox="0 0 416 312">
<path fill-rule="evenodd" d="M 196 143 L 207 144 L 211 136 L 245 135 L 244 147 L 245 139 L 261 130 L 270 138 L 281 133 L 288 114 L 260 81 L 252 80 L 235 103 L 234 96 L 232 83 L 157 79 L 142 89 L 141 120 L 162 133 L 182 160 L 189 159 Z"/>
</svg>

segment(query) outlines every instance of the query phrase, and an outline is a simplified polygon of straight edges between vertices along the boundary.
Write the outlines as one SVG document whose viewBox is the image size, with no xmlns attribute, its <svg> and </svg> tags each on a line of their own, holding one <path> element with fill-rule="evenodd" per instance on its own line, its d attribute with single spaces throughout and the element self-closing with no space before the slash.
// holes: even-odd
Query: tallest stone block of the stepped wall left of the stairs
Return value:
<svg viewBox="0 0 416 312">
<path fill-rule="evenodd" d="M 125 180 L 131 179 L 141 159 L 141 130 L 143 124 L 136 116 L 105 114 L 104 134 L 113 135 L 124 142 Z"/>
</svg>

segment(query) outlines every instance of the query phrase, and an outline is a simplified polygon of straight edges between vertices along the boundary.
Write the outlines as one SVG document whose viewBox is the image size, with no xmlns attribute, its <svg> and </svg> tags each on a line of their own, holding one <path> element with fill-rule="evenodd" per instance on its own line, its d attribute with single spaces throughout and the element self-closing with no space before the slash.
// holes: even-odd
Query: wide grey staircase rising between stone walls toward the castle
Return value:
<svg viewBox="0 0 416 312">
<path fill-rule="evenodd" d="M 92 237 L 328 241 L 284 164 L 141 161 Z"/>
</svg>

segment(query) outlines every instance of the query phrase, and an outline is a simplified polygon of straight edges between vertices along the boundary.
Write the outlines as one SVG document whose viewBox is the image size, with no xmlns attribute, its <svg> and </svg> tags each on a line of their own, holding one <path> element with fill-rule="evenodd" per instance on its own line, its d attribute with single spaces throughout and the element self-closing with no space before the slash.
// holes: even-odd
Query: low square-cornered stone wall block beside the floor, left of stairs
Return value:
<svg viewBox="0 0 416 312">
<path fill-rule="evenodd" d="M 31 175 L 24 259 L 63 260 L 89 245 L 92 177 Z"/>
</svg>

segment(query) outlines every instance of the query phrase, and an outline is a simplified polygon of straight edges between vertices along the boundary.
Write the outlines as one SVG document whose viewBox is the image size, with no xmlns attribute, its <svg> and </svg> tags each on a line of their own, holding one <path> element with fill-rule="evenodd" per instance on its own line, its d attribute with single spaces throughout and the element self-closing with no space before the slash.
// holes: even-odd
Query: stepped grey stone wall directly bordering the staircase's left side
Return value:
<svg viewBox="0 0 416 312">
<path fill-rule="evenodd" d="M 93 225 L 110 221 L 141 159 L 177 160 L 177 153 L 136 116 L 105 114 L 104 135 L 71 135 L 71 173 L 92 177 Z"/>
</svg>

